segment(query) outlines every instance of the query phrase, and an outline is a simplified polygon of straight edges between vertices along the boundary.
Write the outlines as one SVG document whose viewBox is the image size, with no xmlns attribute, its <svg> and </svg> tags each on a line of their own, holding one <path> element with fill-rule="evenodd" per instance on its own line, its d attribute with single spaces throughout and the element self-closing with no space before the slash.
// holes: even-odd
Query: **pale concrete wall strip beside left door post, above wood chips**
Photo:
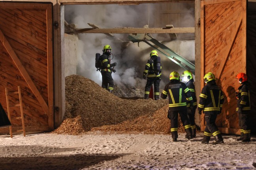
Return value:
<svg viewBox="0 0 256 170">
<path fill-rule="evenodd" d="M 76 35 L 64 34 L 64 76 L 77 73 L 77 41 Z"/>
</svg>

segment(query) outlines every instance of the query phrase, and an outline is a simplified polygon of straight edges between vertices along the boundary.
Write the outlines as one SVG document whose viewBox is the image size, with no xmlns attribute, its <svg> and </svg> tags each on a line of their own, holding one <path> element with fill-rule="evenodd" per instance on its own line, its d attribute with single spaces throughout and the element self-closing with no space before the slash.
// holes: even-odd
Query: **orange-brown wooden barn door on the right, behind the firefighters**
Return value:
<svg viewBox="0 0 256 170">
<path fill-rule="evenodd" d="M 201 78 L 213 72 L 225 102 L 216 124 L 222 133 L 240 134 L 235 76 L 246 73 L 246 0 L 201 1 Z M 201 89 L 204 82 L 201 82 Z M 201 130 L 205 127 L 201 116 Z"/>
</svg>

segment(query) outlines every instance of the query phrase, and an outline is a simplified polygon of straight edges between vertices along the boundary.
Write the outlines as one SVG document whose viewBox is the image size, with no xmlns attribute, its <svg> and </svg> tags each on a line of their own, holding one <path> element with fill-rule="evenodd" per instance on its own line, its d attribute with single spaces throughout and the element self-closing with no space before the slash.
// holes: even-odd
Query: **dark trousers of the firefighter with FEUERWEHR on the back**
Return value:
<svg viewBox="0 0 256 170">
<path fill-rule="evenodd" d="M 186 134 L 192 135 L 192 129 L 187 116 L 187 110 L 170 111 L 168 110 L 168 118 L 171 120 L 171 137 L 173 139 L 178 138 L 178 114 L 181 117 L 181 122 L 185 128 Z"/>
</svg>

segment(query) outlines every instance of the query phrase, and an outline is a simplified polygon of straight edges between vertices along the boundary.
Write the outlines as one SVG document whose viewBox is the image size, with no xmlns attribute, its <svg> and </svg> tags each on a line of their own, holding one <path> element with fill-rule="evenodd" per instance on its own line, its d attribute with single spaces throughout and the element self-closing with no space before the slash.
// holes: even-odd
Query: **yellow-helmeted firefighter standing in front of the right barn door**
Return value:
<svg viewBox="0 0 256 170">
<path fill-rule="evenodd" d="M 221 113 L 224 96 L 218 85 L 216 85 L 215 75 L 208 72 L 203 77 L 204 82 L 207 83 L 203 87 L 200 94 L 200 102 L 198 104 L 198 113 L 201 115 L 202 111 L 205 114 L 205 130 L 203 133 L 203 140 L 201 143 L 209 144 L 211 135 L 215 137 L 213 145 L 224 143 L 222 135 L 215 124 L 217 115 Z"/>
</svg>

